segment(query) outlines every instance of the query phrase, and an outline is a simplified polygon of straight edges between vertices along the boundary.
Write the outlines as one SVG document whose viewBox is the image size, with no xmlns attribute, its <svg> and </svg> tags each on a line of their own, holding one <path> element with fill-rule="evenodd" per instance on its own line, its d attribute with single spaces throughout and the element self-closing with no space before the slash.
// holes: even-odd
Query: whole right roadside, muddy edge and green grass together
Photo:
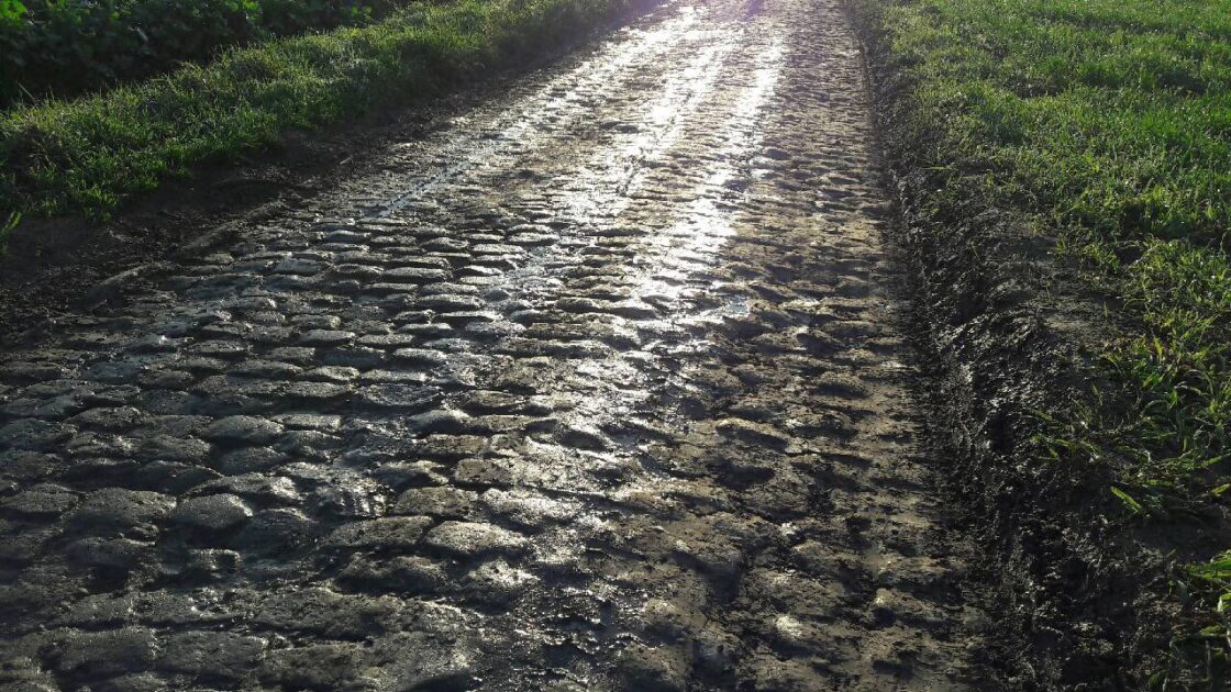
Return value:
<svg viewBox="0 0 1231 692">
<path fill-rule="evenodd" d="M 848 7 L 1004 682 L 1224 688 L 1231 6 Z"/>
</svg>

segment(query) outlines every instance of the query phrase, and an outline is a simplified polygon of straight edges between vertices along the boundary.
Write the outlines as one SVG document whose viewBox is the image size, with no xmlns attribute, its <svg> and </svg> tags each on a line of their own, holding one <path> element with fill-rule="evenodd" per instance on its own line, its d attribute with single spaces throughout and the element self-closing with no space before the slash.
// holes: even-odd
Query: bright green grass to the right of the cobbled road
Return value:
<svg viewBox="0 0 1231 692">
<path fill-rule="evenodd" d="M 1109 298 L 1109 384 L 1056 412 L 1043 463 L 1109 468 L 1146 521 L 1231 499 L 1231 0 L 852 1 L 908 84 L 897 124 L 960 180 L 936 208 L 1017 209 Z M 1224 666 L 1226 549 L 1189 570 Z"/>
</svg>

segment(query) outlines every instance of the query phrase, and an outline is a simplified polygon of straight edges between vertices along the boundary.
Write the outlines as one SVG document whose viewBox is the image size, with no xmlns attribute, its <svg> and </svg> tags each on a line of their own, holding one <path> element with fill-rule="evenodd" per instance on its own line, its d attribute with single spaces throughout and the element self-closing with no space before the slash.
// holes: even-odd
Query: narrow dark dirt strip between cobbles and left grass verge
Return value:
<svg viewBox="0 0 1231 692">
<path fill-rule="evenodd" d="M 654 11 L 661 0 L 634 0 L 628 11 L 527 62 L 505 65 L 454 92 L 396 105 L 315 131 L 291 129 L 272 148 L 238 163 L 203 164 L 135 197 L 106 223 L 74 214 L 27 219 L 0 254 L 0 344 L 33 337 L 65 312 L 91 309 L 140 287 L 142 276 L 176 256 L 197 256 L 231 241 L 279 211 L 355 175 L 391 143 L 422 138 L 467 106 L 497 94 L 518 75 L 551 64 L 614 27 Z"/>
</svg>

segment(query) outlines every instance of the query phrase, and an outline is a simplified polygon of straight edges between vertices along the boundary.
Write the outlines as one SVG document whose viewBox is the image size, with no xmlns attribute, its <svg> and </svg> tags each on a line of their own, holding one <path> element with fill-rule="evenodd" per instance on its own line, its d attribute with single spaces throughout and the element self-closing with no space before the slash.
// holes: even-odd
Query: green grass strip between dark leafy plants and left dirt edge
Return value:
<svg viewBox="0 0 1231 692">
<path fill-rule="evenodd" d="M 100 96 L 0 113 L 0 219 L 85 213 L 194 164 L 385 102 L 437 94 L 588 31 L 625 0 L 414 4 L 371 26 L 278 39 Z"/>
</svg>

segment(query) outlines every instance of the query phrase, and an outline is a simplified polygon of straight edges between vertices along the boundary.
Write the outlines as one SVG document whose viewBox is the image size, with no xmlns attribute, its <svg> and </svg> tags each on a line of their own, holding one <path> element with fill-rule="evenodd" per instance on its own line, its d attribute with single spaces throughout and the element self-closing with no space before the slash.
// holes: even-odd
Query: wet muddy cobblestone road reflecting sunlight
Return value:
<svg viewBox="0 0 1231 692">
<path fill-rule="evenodd" d="M 862 80 L 668 4 L 10 348 L 0 686 L 977 682 Z"/>
</svg>

